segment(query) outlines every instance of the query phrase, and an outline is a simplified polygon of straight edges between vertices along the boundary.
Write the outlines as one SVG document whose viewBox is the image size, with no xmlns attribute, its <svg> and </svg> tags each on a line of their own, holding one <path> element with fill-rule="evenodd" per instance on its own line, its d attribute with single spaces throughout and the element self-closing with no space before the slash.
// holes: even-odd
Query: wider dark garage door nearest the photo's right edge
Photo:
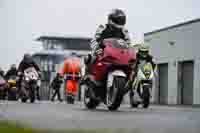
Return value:
<svg viewBox="0 0 200 133">
<path fill-rule="evenodd" d="M 193 103 L 194 62 L 181 63 L 181 104 Z"/>
</svg>

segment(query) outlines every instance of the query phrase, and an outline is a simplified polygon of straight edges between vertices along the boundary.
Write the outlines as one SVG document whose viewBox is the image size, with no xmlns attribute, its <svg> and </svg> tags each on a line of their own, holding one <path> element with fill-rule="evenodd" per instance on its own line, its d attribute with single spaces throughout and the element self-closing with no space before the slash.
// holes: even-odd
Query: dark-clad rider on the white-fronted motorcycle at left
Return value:
<svg viewBox="0 0 200 133">
<path fill-rule="evenodd" d="M 41 75 L 41 71 L 40 71 L 39 66 L 35 63 L 32 56 L 30 54 L 26 53 L 26 54 L 24 54 L 23 60 L 20 62 L 19 67 L 18 67 L 17 87 L 18 87 L 19 91 L 21 89 L 21 81 L 22 81 L 22 78 L 23 78 L 24 70 L 26 70 L 29 67 L 34 67 L 36 69 L 36 71 L 38 72 L 39 76 Z M 36 92 L 37 92 L 37 99 L 40 100 L 39 89 L 37 89 Z"/>
</svg>

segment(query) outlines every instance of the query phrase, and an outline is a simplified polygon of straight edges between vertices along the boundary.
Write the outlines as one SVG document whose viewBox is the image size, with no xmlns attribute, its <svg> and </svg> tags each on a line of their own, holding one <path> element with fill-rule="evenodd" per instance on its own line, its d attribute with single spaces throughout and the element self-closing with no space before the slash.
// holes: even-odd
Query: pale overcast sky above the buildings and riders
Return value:
<svg viewBox="0 0 200 133">
<path fill-rule="evenodd" d="M 41 49 L 40 35 L 93 36 L 112 8 L 124 9 L 132 39 L 200 17 L 199 0 L 0 0 L 0 67 Z"/>
</svg>

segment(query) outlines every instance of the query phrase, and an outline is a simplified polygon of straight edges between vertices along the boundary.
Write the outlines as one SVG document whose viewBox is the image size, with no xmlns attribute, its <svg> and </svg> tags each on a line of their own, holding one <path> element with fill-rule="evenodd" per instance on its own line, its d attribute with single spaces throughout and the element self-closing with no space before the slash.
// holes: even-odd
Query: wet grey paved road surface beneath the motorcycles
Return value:
<svg viewBox="0 0 200 133">
<path fill-rule="evenodd" d="M 122 105 L 116 112 L 104 105 L 96 110 L 81 103 L 35 104 L 0 101 L 0 119 L 16 120 L 36 128 L 131 128 L 139 133 L 200 133 L 200 108 L 152 105 L 131 109 Z"/>
</svg>

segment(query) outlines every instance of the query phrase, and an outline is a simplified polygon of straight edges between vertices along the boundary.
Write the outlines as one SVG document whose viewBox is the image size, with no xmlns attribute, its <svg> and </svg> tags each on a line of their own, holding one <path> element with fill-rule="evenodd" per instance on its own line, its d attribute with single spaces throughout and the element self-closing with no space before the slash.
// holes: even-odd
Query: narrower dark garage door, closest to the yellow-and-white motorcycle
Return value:
<svg viewBox="0 0 200 133">
<path fill-rule="evenodd" d="M 167 104 L 168 100 L 168 64 L 159 65 L 159 103 Z"/>
</svg>

